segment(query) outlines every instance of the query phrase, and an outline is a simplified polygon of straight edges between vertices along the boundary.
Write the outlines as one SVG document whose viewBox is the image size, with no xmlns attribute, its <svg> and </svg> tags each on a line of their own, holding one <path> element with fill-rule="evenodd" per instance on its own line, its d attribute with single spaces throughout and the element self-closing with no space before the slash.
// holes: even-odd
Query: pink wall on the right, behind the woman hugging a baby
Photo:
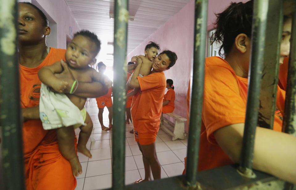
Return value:
<svg viewBox="0 0 296 190">
<path fill-rule="evenodd" d="M 246 2 L 246 0 L 241 1 Z M 194 0 L 191 0 L 127 56 L 127 60 L 130 60 L 134 55 L 143 54 L 149 41 L 156 41 L 160 44 L 162 50 L 169 49 L 177 54 L 178 60 L 176 64 L 170 70 L 165 71 L 165 75 L 174 81 L 176 93 L 174 112 L 185 118 L 187 117 L 186 95 L 191 74 L 193 50 L 194 2 Z M 239 1 L 209 0 L 208 30 L 213 28 L 216 19 L 215 13 L 223 11 L 230 2 Z"/>
</svg>

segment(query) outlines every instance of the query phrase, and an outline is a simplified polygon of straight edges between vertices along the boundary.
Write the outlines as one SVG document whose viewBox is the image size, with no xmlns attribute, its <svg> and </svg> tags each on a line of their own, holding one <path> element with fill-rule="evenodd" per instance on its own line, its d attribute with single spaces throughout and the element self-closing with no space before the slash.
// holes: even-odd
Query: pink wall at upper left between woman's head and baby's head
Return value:
<svg viewBox="0 0 296 190">
<path fill-rule="evenodd" d="M 64 0 L 19 0 L 22 1 L 33 3 L 49 17 L 52 33 L 47 37 L 47 44 L 66 49 L 66 36 L 72 38 L 73 34 L 80 30 L 67 3 Z"/>
</svg>

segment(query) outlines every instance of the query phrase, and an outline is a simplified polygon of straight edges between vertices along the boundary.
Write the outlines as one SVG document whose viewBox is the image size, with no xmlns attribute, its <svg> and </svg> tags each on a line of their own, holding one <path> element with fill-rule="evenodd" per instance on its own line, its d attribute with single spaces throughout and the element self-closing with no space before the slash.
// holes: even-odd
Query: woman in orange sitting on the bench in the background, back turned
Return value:
<svg viewBox="0 0 296 190">
<path fill-rule="evenodd" d="M 163 122 L 163 113 L 172 113 L 175 109 L 175 87 L 172 79 L 167 79 L 167 92 L 162 100 L 162 113 L 160 121 Z"/>
</svg>

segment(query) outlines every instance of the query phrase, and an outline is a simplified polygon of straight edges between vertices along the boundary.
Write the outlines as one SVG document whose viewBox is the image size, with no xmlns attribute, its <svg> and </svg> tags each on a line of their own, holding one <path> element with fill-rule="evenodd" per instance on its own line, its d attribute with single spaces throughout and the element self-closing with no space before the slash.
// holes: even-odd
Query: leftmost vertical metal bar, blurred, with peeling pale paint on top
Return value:
<svg viewBox="0 0 296 190">
<path fill-rule="evenodd" d="M 0 107 L 4 189 L 25 189 L 17 57 L 18 5 L 0 0 Z"/>
</svg>

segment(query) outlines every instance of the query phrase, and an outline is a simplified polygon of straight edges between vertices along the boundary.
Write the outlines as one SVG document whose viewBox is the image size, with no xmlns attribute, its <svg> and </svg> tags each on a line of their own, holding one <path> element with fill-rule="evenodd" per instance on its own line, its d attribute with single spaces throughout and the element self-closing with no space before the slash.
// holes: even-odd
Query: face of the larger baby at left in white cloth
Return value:
<svg viewBox="0 0 296 190">
<path fill-rule="evenodd" d="M 96 44 L 88 37 L 75 36 L 68 45 L 66 61 L 72 68 L 83 69 L 95 63 Z"/>
</svg>

